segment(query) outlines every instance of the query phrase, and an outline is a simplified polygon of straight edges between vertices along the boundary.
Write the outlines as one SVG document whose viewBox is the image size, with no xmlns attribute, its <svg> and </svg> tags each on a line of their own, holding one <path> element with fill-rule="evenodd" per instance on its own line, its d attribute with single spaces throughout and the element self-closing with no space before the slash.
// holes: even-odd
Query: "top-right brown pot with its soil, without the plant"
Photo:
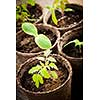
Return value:
<svg viewBox="0 0 100 100">
<path fill-rule="evenodd" d="M 61 33 L 65 33 L 68 30 L 71 30 L 75 27 L 83 25 L 83 7 L 77 4 L 66 4 L 66 7 L 71 8 L 74 12 L 64 12 L 64 15 L 56 10 L 56 17 L 58 19 L 58 25 L 56 26 L 52 22 L 51 13 L 48 11 L 43 18 L 45 24 L 51 24 L 55 26 Z M 61 34 L 61 35 L 62 35 Z"/>
</svg>

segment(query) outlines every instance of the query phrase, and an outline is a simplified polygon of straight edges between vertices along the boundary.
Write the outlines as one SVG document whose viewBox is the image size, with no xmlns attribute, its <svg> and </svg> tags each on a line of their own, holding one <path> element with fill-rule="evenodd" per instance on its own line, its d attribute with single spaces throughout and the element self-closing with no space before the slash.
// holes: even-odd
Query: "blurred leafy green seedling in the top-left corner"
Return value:
<svg viewBox="0 0 100 100">
<path fill-rule="evenodd" d="M 35 19 L 30 19 L 30 12 L 27 10 L 27 4 L 30 4 L 31 6 L 35 6 L 35 0 L 23 0 L 23 4 L 16 6 L 16 20 L 21 20 L 22 22 L 25 22 L 27 20 L 29 21 L 35 21 Z"/>
</svg>

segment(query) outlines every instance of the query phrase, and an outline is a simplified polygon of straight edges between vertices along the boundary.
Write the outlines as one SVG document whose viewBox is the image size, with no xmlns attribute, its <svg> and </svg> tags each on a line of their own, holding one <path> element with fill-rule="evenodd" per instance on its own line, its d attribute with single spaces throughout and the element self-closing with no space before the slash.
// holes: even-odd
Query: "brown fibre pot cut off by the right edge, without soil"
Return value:
<svg viewBox="0 0 100 100">
<path fill-rule="evenodd" d="M 83 100 L 83 54 L 80 57 L 72 57 L 66 54 L 67 51 L 73 52 L 69 48 L 64 50 L 63 46 L 71 40 L 83 40 L 83 29 L 77 28 L 76 30 L 66 32 L 58 42 L 59 54 L 68 59 L 72 65 L 72 100 Z M 74 45 L 74 44 L 73 44 Z M 73 46 L 72 45 L 72 46 Z"/>
</svg>

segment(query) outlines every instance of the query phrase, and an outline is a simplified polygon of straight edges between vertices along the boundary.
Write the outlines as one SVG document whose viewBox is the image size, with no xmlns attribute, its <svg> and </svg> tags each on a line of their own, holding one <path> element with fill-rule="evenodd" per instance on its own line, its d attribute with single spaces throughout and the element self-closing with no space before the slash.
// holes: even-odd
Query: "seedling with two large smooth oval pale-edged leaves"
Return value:
<svg viewBox="0 0 100 100">
<path fill-rule="evenodd" d="M 22 30 L 31 36 L 35 37 L 35 43 L 40 47 L 41 49 L 50 49 L 52 47 L 51 41 L 47 36 L 44 34 L 38 34 L 38 30 L 35 25 L 29 22 L 24 22 L 22 24 Z"/>
</svg>

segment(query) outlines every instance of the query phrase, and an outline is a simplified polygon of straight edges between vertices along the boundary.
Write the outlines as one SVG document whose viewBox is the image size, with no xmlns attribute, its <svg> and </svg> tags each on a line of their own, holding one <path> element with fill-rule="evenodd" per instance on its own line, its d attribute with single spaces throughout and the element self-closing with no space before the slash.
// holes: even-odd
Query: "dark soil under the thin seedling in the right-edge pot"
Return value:
<svg viewBox="0 0 100 100">
<path fill-rule="evenodd" d="M 78 46 L 75 47 L 74 43 L 69 44 L 68 46 L 63 48 L 63 52 L 70 57 L 76 57 L 76 58 L 83 57 L 83 47 L 79 49 Z"/>
</svg>

